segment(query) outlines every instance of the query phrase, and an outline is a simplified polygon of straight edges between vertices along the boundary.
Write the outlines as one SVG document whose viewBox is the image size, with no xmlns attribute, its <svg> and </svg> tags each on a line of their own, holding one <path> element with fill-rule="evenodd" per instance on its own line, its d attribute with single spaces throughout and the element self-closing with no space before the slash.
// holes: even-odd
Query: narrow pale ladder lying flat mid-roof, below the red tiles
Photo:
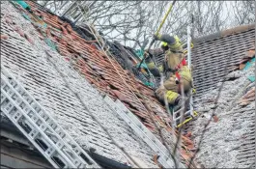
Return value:
<svg viewBox="0 0 256 169">
<path fill-rule="evenodd" d="M 162 145 L 162 143 L 156 138 L 156 136 L 145 127 L 138 118 L 131 113 L 128 108 L 119 100 L 113 101 L 108 96 L 104 96 L 105 102 L 114 109 L 114 111 L 120 115 L 120 117 L 131 127 L 137 136 L 139 136 L 146 144 L 152 148 L 153 151 L 158 155 L 158 162 L 164 168 L 174 168 L 174 161 L 169 155 L 168 150 Z M 185 168 L 185 166 L 180 163 L 180 167 Z"/>
</svg>

